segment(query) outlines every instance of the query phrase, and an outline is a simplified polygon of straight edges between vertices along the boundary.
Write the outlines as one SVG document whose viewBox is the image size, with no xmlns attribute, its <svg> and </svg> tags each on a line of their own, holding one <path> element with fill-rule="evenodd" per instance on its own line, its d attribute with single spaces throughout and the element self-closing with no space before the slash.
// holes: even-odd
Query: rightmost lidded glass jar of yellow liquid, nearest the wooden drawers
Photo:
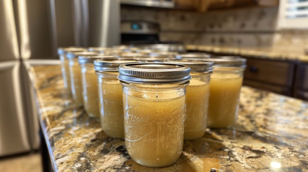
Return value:
<svg viewBox="0 0 308 172">
<path fill-rule="evenodd" d="M 214 69 L 210 83 L 207 125 L 213 128 L 229 128 L 237 119 L 246 59 L 221 56 L 208 60 L 214 62 Z"/>
</svg>

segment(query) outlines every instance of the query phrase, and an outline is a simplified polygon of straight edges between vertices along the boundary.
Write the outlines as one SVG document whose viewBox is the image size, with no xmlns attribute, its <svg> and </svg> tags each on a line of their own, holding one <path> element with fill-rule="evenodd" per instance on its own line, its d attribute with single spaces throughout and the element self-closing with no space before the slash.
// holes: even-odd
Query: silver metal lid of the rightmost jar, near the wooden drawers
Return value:
<svg viewBox="0 0 308 172">
<path fill-rule="evenodd" d="M 246 67 L 246 59 L 239 56 L 215 56 L 203 59 L 214 62 L 213 67 Z"/>
</svg>

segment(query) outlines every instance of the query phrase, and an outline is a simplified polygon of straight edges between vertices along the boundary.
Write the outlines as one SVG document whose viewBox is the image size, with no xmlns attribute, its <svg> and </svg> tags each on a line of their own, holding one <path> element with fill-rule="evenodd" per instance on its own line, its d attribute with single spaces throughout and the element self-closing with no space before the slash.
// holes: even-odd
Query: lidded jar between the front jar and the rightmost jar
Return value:
<svg viewBox="0 0 308 172">
<path fill-rule="evenodd" d="M 191 68 L 192 79 L 186 88 L 184 140 L 199 139 L 206 131 L 210 95 L 209 82 L 213 71 L 213 62 L 193 58 L 168 59 L 165 62 L 184 64 Z"/>
</svg>

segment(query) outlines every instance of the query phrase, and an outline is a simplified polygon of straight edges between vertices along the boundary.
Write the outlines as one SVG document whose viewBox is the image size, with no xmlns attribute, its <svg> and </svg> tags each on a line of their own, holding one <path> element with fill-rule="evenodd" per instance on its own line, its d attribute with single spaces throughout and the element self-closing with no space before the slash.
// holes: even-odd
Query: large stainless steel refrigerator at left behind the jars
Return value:
<svg viewBox="0 0 308 172">
<path fill-rule="evenodd" d="M 119 0 L 0 1 L 0 157 L 40 145 L 30 65 L 59 63 L 58 47 L 119 44 L 119 17 Z"/>
</svg>

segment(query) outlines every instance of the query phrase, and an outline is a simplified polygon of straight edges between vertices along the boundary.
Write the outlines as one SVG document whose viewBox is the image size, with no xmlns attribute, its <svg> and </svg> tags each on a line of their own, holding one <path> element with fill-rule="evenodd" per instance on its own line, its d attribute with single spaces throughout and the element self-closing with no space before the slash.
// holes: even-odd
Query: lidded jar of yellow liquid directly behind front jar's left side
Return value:
<svg viewBox="0 0 308 172">
<path fill-rule="evenodd" d="M 123 91 L 117 75 L 119 66 L 137 59 L 104 58 L 94 61 L 98 79 L 100 121 L 103 131 L 113 138 L 124 138 Z"/>
</svg>

